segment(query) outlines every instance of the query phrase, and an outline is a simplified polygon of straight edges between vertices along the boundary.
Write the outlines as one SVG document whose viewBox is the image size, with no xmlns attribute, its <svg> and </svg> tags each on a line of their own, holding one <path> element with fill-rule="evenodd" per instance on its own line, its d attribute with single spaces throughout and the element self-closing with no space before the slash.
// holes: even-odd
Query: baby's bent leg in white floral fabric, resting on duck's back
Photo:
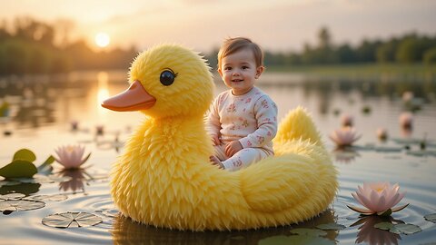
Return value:
<svg viewBox="0 0 436 245">
<path fill-rule="evenodd" d="M 261 148 L 244 148 L 236 152 L 231 158 L 223 161 L 224 168 L 229 171 L 236 171 L 247 167 L 253 162 L 259 162 L 268 156 L 268 153 Z"/>
</svg>

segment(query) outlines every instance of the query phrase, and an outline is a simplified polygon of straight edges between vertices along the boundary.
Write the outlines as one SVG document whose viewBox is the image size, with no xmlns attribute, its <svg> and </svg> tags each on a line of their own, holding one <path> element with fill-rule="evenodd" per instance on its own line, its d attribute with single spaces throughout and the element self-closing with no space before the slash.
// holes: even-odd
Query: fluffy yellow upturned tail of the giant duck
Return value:
<svg viewBox="0 0 436 245">
<path fill-rule="evenodd" d="M 321 134 L 316 129 L 312 116 L 302 106 L 298 106 L 282 119 L 274 145 L 295 140 L 309 141 L 322 146 Z"/>
</svg>

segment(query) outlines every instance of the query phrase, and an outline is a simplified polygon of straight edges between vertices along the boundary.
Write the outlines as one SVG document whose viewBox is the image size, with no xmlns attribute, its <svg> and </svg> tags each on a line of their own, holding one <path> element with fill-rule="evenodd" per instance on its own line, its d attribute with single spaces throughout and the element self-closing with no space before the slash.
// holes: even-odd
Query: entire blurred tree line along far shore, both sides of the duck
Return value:
<svg viewBox="0 0 436 245">
<path fill-rule="evenodd" d="M 69 42 L 72 25 L 68 21 L 49 25 L 30 17 L 16 18 L 11 28 L 0 22 L 0 75 L 127 69 L 137 54 L 134 46 L 94 51 L 84 40 Z M 352 46 L 333 44 L 329 29 L 322 27 L 317 37 L 317 44 L 304 44 L 301 52 L 265 51 L 265 65 L 436 64 L 436 35 L 411 33 Z M 216 67 L 217 53 L 215 49 L 205 54 L 212 67 Z"/>
</svg>

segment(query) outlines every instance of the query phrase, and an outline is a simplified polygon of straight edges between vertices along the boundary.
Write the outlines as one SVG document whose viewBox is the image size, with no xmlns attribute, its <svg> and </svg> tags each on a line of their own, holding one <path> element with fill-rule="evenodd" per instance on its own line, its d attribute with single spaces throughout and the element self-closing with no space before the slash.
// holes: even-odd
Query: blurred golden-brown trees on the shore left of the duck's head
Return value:
<svg viewBox="0 0 436 245">
<path fill-rule="evenodd" d="M 137 54 L 134 47 L 94 51 L 83 39 L 68 42 L 65 26 L 71 23 L 48 25 L 30 17 L 16 18 L 10 27 L 0 22 L 0 75 L 126 69 Z"/>
</svg>

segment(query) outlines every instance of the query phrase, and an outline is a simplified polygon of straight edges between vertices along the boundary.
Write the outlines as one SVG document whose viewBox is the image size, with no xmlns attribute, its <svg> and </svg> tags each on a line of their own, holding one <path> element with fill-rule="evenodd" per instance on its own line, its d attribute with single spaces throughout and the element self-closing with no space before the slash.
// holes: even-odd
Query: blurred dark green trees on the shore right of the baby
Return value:
<svg viewBox="0 0 436 245">
<path fill-rule="evenodd" d="M 304 64 L 436 64 L 436 35 L 416 33 L 389 40 L 363 40 L 360 44 L 332 44 L 332 34 L 322 27 L 317 44 L 304 44 L 300 53 L 265 52 L 266 65 Z"/>
</svg>

